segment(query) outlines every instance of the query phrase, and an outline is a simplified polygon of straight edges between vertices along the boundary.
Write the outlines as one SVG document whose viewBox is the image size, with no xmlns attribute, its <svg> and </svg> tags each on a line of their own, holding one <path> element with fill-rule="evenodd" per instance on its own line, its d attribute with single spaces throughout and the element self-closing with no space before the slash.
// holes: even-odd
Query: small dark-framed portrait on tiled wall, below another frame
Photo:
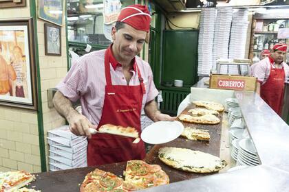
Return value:
<svg viewBox="0 0 289 192">
<path fill-rule="evenodd" d="M 61 56 L 61 27 L 44 23 L 45 55 Z"/>
</svg>

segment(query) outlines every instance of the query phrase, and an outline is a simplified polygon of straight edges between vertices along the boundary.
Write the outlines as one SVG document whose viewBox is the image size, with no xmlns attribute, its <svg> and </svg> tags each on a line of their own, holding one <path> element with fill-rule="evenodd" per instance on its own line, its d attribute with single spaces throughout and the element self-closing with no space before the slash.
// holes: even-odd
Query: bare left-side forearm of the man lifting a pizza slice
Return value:
<svg viewBox="0 0 289 192">
<path fill-rule="evenodd" d="M 72 114 L 74 114 L 75 112 L 77 113 L 77 111 L 72 108 L 72 102 L 66 97 L 64 97 L 64 95 L 60 91 L 56 91 L 53 97 L 53 105 L 59 115 L 67 119 L 67 121 L 69 121 L 69 117 Z"/>
</svg>

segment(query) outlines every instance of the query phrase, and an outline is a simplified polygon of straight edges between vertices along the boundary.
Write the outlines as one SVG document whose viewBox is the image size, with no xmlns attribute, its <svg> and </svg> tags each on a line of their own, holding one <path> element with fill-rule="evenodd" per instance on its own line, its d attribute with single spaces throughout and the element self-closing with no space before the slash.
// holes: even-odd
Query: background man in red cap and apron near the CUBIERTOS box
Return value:
<svg viewBox="0 0 289 192">
<path fill-rule="evenodd" d="M 283 62 L 288 45 L 278 43 L 268 58 L 257 63 L 253 75 L 258 78 L 257 93 L 266 103 L 281 115 L 284 82 L 289 76 L 289 67 Z"/>
</svg>

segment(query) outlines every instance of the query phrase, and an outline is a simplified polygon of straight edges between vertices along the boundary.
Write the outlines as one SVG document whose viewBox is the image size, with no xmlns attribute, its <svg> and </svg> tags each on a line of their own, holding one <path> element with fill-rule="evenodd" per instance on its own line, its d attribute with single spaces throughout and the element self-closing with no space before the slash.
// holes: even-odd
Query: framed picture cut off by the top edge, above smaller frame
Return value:
<svg viewBox="0 0 289 192">
<path fill-rule="evenodd" d="M 56 25 L 63 25 L 63 0 L 38 0 L 38 17 Z"/>
</svg>

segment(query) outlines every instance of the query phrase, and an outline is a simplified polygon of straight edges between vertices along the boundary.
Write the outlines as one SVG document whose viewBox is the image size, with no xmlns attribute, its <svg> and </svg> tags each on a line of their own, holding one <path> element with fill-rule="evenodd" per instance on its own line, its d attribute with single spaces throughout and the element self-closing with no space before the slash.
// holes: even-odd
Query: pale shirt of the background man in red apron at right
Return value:
<svg viewBox="0 0 289 192">
<path fill-rule="evenodd" d="M 258 82 L 260 82 L 261 84 L 265 84 L 270 75 L 271 64 L 273 65 L 273 68 L 275 68 L 275 62 L 270 56 L 264 58 L 264 60 L 261 60 L 251 66 L 251 74 L 254 77 L 257 77 Z M 282 62 L 281 67 L 284 67 L 286 81 L 289 77 L 288 64 L 286 64 L 286 62 Z"/>
</svg>

